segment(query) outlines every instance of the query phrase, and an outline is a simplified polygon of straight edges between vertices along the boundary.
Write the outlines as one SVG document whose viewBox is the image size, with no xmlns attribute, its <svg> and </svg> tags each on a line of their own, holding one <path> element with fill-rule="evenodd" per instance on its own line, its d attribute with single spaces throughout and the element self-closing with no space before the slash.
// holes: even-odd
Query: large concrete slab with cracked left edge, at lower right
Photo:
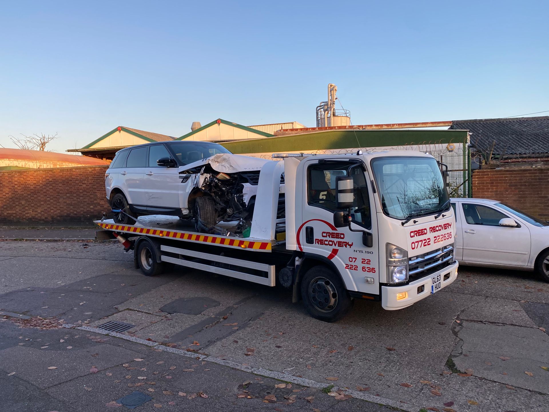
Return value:
<svg viewBox="0 0 549 412">
<path fill-rule="evenodd" d="M 549 394 L 549 336 L 539 329 L 462 322 L 457 369 L 481 378 Z M 530 376 L 533 375 L 533 376 Z"/>
</svg>

